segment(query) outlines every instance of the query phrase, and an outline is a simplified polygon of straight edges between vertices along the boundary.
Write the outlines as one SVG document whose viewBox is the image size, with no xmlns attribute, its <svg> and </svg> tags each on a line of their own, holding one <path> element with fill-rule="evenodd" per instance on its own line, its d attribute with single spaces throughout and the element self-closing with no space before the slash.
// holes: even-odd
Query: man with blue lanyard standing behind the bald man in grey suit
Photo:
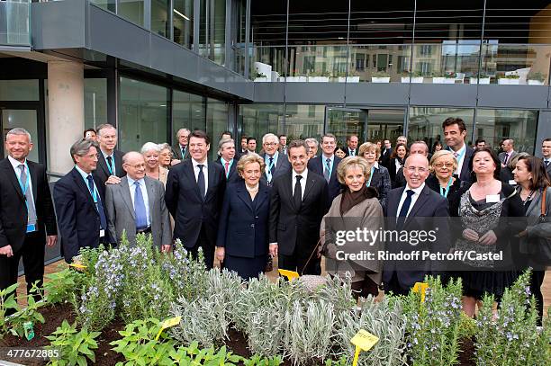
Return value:
<svg viewBox="0 0 551 366">
<path fill-rule="evenodd" d="M 117 129 L 105 123 L 97 128 L 97 141 L 99 151 L 97 154 L 97 169 L 95 175 L 104 185 L 121 183 L 121 178 L 126 175 L 122 169 L 122 151 L 115 149 L 117 146 Z"/>
</svg>

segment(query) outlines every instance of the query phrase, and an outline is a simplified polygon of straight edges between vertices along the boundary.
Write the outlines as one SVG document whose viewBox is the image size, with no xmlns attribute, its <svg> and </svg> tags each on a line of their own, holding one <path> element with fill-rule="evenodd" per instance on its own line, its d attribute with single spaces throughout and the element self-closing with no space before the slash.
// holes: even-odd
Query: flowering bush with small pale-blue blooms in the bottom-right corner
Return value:
<svg viewBox="0 0 551 366">
<path fill-rule="evenodd" d="M 494 299 L 486 296 L 476 325 L 475 358 L 477 365 L 549 365 L 551 364 L 551 323 L 549 311 L 543 327 L 537 327 L 536 300 L 529 290 L 530 272 L 524 272 L 506 289 L 497 314 Z"/>
</svg>

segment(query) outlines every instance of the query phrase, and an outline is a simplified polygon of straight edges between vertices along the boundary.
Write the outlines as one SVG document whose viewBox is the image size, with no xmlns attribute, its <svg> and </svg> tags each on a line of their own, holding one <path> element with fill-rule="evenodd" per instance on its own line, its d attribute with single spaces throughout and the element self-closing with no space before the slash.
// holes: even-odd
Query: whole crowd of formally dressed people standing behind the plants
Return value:
<svg viewBox="0 0 551 366">
<path fill-rule="evenodd" d="M 180 129 L 174 147 L 147 142 L 122 153 L 117 130 L 104 124 L 70 147 L 74 168 L 54 184 L 52 197 L 44 166 L 27 159 L 32 136 L 12 129 L 0 161 L 0 288 L 17 281 L 21 257 L 29 289 L 40 285 L 44 245 L 55 245 L 58 235 L 68 263 L 83 247 L 115 246 L 123 236 L 134 245 L 148 234 L 159 251 L 169 253 L 177 240 L 194 256 L 201 250 L 207 268 L 220 263 L 248 280 L 269 271 L 273 259 L 280 269 L 321 274 L 321 256 L 336 259 L 335 235 L 353 229 L 350 223 L 429 231 L 439 219 L 438 240 L 428 244 L 433 252 L 501 250 L 523 258 L 522 268 L 533 268 L 541 317 L 551 258 L 551 138 L 539 158 L 515 151 L 511 138 L 499 154 L 483 139 L 471 147 L 459 118 L 444 121 L 442 133 L 430 148 L 405 136 L 393 145 L 360 144 L 352 135 L 338 146 L 330 133 L 289 142 L 273 133 L 258 141 L 243 136 L 236 146 L 230 132 L 215 142 L 202 130 Z M 350 241 L 348 249 L 363 245 Z M 404 247 L 396 240 L 372 245 L 390 253 Z M 392 260 L 344 262 L 327 272 L 348 272 L 357 297 L 380 289 L 406 294 L 427 274 L 461 277 L 469 316 L 484 293 L 499 303 L 522 269 L 491 260 L 465 260 L 453 272 L 422 260 L 407 270 Z"/>
</svg>

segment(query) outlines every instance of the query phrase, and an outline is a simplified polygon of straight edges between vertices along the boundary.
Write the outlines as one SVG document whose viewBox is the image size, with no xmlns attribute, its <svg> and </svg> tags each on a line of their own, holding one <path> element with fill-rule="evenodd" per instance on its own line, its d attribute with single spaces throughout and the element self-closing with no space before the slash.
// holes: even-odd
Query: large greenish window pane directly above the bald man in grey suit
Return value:
<svg viewBox="0 0 551 366">
<path fill-rule="evenodd" d="M 167 141 L 167 88 L 121 77 L 119 148 L 140 150 Z"/>
</svg>

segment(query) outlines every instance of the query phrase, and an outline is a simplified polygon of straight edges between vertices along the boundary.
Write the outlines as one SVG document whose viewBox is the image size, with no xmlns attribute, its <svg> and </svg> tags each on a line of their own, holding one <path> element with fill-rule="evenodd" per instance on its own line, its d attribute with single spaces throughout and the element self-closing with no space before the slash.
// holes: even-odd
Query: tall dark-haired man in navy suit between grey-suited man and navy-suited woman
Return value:
<svg viewBox="0 0 551 366">
<path fill-rule="evenodd" d="M 206 133 L 194 130 L 189 136 L 191 159 L 168 172 L 165 201 L 175 219 L 174 238 L 180 239 L 194 256 L 201 247 L 204 263 L 210 269 L 226 178 L 221 165 L 207 161 L 211 145 Z"/>
</svg>

